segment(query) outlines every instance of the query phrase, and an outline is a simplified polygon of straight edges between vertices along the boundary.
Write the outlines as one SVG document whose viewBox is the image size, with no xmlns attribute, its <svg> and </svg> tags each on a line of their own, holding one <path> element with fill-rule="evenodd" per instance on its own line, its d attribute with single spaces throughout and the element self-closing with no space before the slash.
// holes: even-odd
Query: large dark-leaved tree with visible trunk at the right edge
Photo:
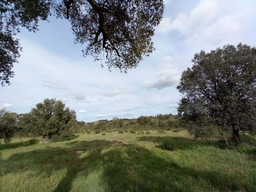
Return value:
<svg viewBox="0 0 256 192">
<path fill-rule="evenodd" d="M 239 132 L 256 133 L 256 48 L 226 45 L 196 53 L 194 65 L 182 73 L 177 87 L 188 130 L 196 137 L 230 131 L 238 144 Z"/>
</svg>

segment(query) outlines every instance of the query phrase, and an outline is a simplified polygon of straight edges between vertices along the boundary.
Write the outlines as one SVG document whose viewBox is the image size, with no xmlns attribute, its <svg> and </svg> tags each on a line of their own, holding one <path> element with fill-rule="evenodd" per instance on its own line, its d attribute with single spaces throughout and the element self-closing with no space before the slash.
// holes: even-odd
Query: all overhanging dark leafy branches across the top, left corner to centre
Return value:
<svg viewBox="0 0 256 192">
<path fill-rule="evenodd" d="M 70 21 L 75 43 L 84 56 L 106 57 L 109 68 L 137 67 L 154 49 L 151 37 L 162 19 L 163 0 L 3 0 L 0 3 L 0 82 L 10 84 L 13 63 L 21 47 L 15 35 L 21 27 L 38 30 L 50 15 Z M 67 47 L 68 49 L 68 47 Z"/>
</svg>

